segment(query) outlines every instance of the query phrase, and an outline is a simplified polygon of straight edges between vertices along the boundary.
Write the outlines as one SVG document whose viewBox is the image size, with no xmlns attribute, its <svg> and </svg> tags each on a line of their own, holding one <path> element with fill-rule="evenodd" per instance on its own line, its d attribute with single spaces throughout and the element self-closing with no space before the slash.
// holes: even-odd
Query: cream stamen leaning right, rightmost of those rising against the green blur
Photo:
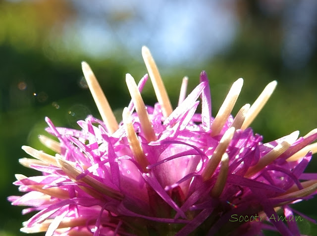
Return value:
<svg viewBox="0 0 317 236">
<path fill-rule="evenodd" d="M 264 107 L 265 103 L 267 102 L 268 98 L 272 95 L 275 87 L 277 85 L 277 82 L 274 80 L 266 87 L 264 88 L 263 92 L 259 95 L 259 97 L 255 100 L 255 102 L 252 104 L 252 106 L 249 109 L 249 112 L 246 116 L 246 119 L 243 122 L 243 125 L 241 127 L 242 130 L 245 130 L 250 126 L 252 121 L 257 117 L 259 112 Z"/>
</svg>

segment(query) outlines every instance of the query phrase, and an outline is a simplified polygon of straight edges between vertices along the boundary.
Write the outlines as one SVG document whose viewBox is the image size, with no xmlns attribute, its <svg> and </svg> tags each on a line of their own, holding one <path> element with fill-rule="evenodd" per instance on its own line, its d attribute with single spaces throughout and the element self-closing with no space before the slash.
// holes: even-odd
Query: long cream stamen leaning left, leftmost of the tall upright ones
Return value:
<svg viewBox="0 0 317 236">
<path fill-rule="evenodd" d="M 108 133 L 113 134 L 118 129 L 118 122 L 114 117 L 108 100 L 90 66 L 85 61 L 83 61 L 81 65 L 85 79 L 87 81 L 87 85 L 90 89 L 91 94 L 93 95 L 100 115 L 105 122 Z"/>
</svg>

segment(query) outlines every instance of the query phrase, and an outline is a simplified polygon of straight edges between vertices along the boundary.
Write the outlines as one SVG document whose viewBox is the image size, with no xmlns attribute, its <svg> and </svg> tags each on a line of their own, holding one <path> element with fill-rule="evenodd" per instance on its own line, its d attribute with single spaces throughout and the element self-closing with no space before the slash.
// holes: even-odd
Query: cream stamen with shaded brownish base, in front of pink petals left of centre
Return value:
<svg viewBox="0 0 317 236">
<path fill-rule="evenodd" d="M 141 143 L 139 142 L 138 137 L 134 131 L 132 117 L 127 107 L 124 107 L 123 109 L 122 120 L 132 154 L 135 160 L 142 167 L 143 171 L 146 172 L 149 162 L 144 155 Z"/>
</svg>

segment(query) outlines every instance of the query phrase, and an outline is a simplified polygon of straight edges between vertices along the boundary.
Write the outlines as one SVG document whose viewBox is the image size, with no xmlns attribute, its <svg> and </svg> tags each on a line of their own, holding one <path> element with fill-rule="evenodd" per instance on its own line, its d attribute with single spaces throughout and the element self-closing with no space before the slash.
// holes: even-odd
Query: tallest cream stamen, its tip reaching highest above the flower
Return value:
<svg viewBox="0 0 317 236">
<path fill-rule="evenodd" d="M 172 109 L 170 100 L 168 98 L 163 81 L 160 77 L 158 67 L 148 47 L 145 47 L 145 46 L 142 47 L 142 56 L 143 56 L 145 65 L 147 67 L 147 70 L 149 72 L 155 94 L 157 95 L 159 105 L 162 109 L 163 116 L 166 118 L 172 113 L 173 109 Z"/>
</svg>

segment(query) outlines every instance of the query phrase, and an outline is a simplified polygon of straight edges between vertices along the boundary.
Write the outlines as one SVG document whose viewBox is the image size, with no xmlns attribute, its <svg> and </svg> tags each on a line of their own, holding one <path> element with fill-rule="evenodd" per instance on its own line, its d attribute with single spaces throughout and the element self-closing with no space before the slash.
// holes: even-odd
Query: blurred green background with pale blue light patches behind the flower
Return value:
<svg viewBox="0 0 317 236">
<path fill-rule="evenodd" d="M 27 156 L 24 144 L 46 150 L 38 141 L 45 116 L 71 128 L 88 114 L 100 117 L 80 62 L 90 63 L 120 120 L 130 100 L 125 74 L 138 81 L 146 73 L 143 45 L 174 107 L 182 77 L 190 90 L 206 70 L 213 114 L 236 79 L 245 85 L 233 114 L 278 81 L 252 125 L 264 141 L 317 126 L 316 0 L 0 0 L 0 236 L 24 235 L 30 215 L 6 197 L 20 194 L 15 173 L 37 174 L 18 159 Z M 143 97 L 156 102 L 151 83 Z M 307 172 L 316 168 L 313 158 Z M 316 199 L 295 208 L 317 219 Z M 316 225 L 299 225 L 317 235 Z"/>
</svg>

